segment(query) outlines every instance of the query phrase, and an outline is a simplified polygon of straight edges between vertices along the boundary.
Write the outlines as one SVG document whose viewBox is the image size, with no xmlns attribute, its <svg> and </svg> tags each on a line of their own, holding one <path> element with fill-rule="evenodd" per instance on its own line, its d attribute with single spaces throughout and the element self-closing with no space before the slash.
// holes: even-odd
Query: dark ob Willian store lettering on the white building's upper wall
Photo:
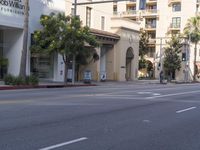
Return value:
<svg viewBox="0 0 200 150">
<path fill-rule="evenodd" d="M 24 15 L 23 0 L 0 0 L 0 14 L 8 16 Z"/>
</svg>

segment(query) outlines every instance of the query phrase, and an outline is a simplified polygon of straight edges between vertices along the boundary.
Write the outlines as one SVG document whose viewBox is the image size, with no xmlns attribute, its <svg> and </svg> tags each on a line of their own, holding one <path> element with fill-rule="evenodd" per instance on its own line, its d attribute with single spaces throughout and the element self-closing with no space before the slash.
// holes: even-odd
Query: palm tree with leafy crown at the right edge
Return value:
<svg viewBox="0 0 200 150">
<path fill-rule="evenodd" d="M 197 44 L 200 41 L 200 16 L 191 17 L 184 28 L 186 36 L 192 43 L 195 44 L 194 48 L 194 74 L 193 81 L 196 81 L 196 55 L 197 55 Z"/>
</svg>

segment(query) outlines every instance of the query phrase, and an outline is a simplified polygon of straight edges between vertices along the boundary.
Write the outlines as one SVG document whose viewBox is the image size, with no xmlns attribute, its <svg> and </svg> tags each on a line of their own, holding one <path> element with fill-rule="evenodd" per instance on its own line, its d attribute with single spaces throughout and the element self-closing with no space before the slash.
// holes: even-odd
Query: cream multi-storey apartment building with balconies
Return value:
<svg viewBox="0 0 200 150">
<path fill-rule="evenodd" d="M 163 48 L 166 46 L 166 41 L 173 34 L 183 33 L 187 20 L 199 14 L 199 2 L 199 0 L 132 0 L 113 4 L 115 16 L 138 21 L 140 27 L 147 31 L 149 53 L 146 59 L 152 62 L 156 78 L 163 69 Z M 187 46 L 188 44 L 187 42 L 182 50 L 182 53 L 188 54 L 188 60 L 183 61 L 181 70 L 174 73 L 176 80 L 192 80 L 194 45 L 190 43 L 190 46 Z M 197 67 L 200 61 L 199 56 L 198 47 Z"/>
</svg>

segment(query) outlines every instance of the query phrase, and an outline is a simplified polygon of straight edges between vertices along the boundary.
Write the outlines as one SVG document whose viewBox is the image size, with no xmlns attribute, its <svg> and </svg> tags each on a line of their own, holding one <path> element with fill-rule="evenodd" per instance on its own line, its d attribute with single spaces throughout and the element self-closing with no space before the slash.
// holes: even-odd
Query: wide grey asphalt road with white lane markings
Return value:
<svg viewBox="0 0 200 150">
<path fill-rule="evenodd" d="M 0 150 L 200 150 L 200 84 L 0 91 Z"/>
</svg>

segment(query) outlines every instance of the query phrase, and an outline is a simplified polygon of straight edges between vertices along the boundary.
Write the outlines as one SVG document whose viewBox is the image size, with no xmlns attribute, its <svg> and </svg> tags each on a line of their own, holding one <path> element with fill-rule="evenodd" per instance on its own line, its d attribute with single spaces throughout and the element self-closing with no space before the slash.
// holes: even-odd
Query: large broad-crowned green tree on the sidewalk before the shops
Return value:
<svg viewBox="0 0 200 150">
<path fill-rule="evenodd" d="M 65 63 L 65 79 L 67 83 L 67 70 L 73 56 L 89 56 L 91 48 L 97 47 L 98 42 L 90 34 L 88 27 L 82 27 L 80 18 L 65 16 L 63 13 L 42 15 L 40 23 L 42 30 L 34 32 L 33 52 L 44 52 L 48 54 L 59 53 Z"/>
</svg>

